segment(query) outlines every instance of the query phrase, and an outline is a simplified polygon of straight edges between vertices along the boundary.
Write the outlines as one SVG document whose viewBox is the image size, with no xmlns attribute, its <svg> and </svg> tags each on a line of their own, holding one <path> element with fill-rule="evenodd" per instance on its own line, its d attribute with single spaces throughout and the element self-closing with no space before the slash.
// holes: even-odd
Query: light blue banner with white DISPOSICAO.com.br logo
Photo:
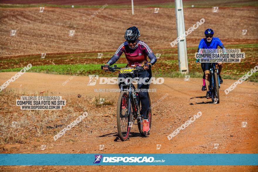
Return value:
<svg viewBox="0 0 258 172">
<path fill-rule="evenodd" d="M 257 166 L 258 154 L 0 154 L 0 165 Z"/>
</svg>

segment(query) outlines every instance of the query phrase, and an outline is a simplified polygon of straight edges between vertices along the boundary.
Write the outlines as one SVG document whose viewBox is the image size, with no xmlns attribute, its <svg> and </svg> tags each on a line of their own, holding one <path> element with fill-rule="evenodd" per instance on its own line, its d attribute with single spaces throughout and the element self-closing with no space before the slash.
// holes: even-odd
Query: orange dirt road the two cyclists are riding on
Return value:
<svg viewBox="0 0 258 172">
<path fill-rule="evenodd" d="M 4 83 L 14 72 L 0 73 L 0 83 Z M 101 96 L 109 98 L 116 102 L 118 93 L 95 93 L 94 89 L 116 88 L 116 85 L 87 86 L 88 76 L 77 76 L 69 81 L 65 86 L 62 83 L 69 76 L 25 73 L 15 82 L 12 82 L 6 90 L 15 88 L 24 89 L 26 95 L 30 93 L 48 91 L 49 95 L 62 96 L 64 99 L 73 101 L 67 102 L 67 108 L 77 107 L 84 103 Z M 166 93 L 169 94 L 161 103 L 152 108 L 152 128 L 150 136 L 140 137 L 137 125 L 133 125 L 129 141 L 121 142 L 117 137 L 116 103 L 107 107 L 95 107 L 88 109 L 89 117 L 84 120 L 91 120 L 85 132 L 78 131 L 76 128 L 66 133 L 57 141 L 52 139 L 53 135 L 44 132 L 44 142 L 32 140 L 26 144 L 8 144 L 7 151 L 2 153 L 257 153 L 257 110 L 258 110 L 258 83 L 243 82 L 238 85 L 228 95 L 224 90 L 234 83 L 233 80 L 224 80 L 220 88 L 220 104 L 211 104 L 202 96 L 201 79 L 191 78 L 190 81 L 184 81 L 182 78 L 165 78 L 164 84 L 151 85 L 150 88 L 156 88 L 156 93 L 150 93 L 152 103 Z M 22 86 L 21 86 L 22 85 Z M 82 98 L 77 98 L 81 94 Z M 4 95 L 1 95 L 2 98 Z M 14 116 L 17 112 L 22 113 L 15 105 L 13 96 L 8 97 Z M 3 99 L 2 99 L 3 100 Z M 74 104 L 72 104 L 74 103 Z M 4 106 L 7 103 L 1 102 L 1 115 L 5 116 Z M 92 107 L 91 107 L 92 108 Z M 194 114 L 201 111 L 202 116 L 195 122 L 180 131 L 172 140 L 167 139 L 167 135 L 176 128 L 184 124 L 186 120 L 193 117 Z M 62 110 L 62 112 L 64 112 Z M 16 113 L 16 115 L 17 115 Z M 103 117 L 108 114 L 108 117 Z M 65 115 L 65 114 L 63 114 Z M 73 120 L 70 120 L 73 121 Z M 241 127 L 242 122 L 247 122 L 247 127 Z M 57 130 L 62 130 L 58 128 Z M 71 141 L 72 140 L 72 141 Z M 214 144 L 219 144 L 218 149 L 214 149 Z M 40 150 L 39 145 L 45 144 L 46 149 Z M 103 144 L 103 151 L 99 150 L 99 145 Z M 156 150 L 156 144 L 161 144 L 161 149 Z M 36 146 L 35 146 L 36 145 Z M 37 171 L 50 170 L 68 171 L 77 167 L 61 166 L 1 166 L 1 171 Z M 121 169 L 141 171 L 142 166 L 78 166 L 82 171 L 120 171 Z M 147 170 L 155 169 L 157 171 L 257 171 L 257 167 L 250 166 L 150 166 L 144 167 Z"/>
</svg>

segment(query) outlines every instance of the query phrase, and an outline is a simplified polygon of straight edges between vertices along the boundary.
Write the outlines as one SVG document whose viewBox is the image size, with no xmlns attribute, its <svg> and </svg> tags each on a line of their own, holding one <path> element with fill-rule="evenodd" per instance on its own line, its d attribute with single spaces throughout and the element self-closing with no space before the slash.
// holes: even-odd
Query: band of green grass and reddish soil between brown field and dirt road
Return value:
<svg viewBox="0 0 258 172">
<path fill-rule="evenodd" d="M 241 63 L 224 63 L 222 69 L 223 79 L 239 79 L 248 71 L 253 69 L 257 64 L 258 44 L 238 44 L 238 45 L 225 45 L 226 48 L 240 48 L 241 52 L 245 52 L 245 59 Z M 197 64 L 194 54 L 197 47 L 188 47 L 188 65 L 189 75 L 191 78 L 201 78 L 203 73 L 201 64 Z M 178 55 L 177 49 L 154 49 L 153 52 L 161 53 L 156 64 L 152 68 L 152 75 L 155 77 L 185 77 L 184 74 L 178 72 Z M 73 54 L 50 54 L 45 59 L 40 59 L 38 56 L 30 55 L 25 57 L 14 57 L 12 59 L 2 59 L 5 64 L 5 69 L 0 69 L 0 72 L 18 72 L 21 67 L 32 63 L 33 67 L 28 72 L 38 72 L 47 74 L 62 74 L 73 75 L 80 69 L 81 76 L 95 74 L 99 76 L 112 76 L 116 77 L 118 72 L 104 72 L 100 66 L 107 62 L 113 55 L 113 51 L 103 52 L 101 59 L 97 59 L 96 52 L 86 53 L 73 53 Z M 26 59 L 26 60 L 25 60 Z M 55 63 L 52 64 L 52 61 Z M 48 63 L 47 63 L 48 62 Z M 125 56 L 122 55 L 116 63 L 118 67 L 126 66 Z M 10 69 L 11 68 L 11 69 Z M 254 73 L 247 80 L 258 82 L 258 72 Z"/>
</svg>

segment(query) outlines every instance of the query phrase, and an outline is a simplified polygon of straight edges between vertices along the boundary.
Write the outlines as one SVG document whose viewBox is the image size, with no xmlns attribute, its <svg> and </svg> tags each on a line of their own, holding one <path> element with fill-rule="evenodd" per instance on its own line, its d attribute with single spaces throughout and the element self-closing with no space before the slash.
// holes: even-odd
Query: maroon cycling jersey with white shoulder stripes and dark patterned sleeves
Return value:
<svg viewBox="0 0 258 172">
<path fill-rule="evenodd" d="M 150 47 L 143 41 L 137 40 L 137 43 L 134 48 L 129 47 L 128 42 L 123 42 L 115 52 L 115 54 L 108 60 L 107 64 L 110 66 L 119 59 L 119 57 L 125 53 L 125 58 L 127 59 L 128 67 L 142 66 L 143 64 L 155 64 L 157 61 L 156 56 L 150 49 Z M 150 59 L 150 62 L 147 60 L 147 56 Z"/>
</svg>

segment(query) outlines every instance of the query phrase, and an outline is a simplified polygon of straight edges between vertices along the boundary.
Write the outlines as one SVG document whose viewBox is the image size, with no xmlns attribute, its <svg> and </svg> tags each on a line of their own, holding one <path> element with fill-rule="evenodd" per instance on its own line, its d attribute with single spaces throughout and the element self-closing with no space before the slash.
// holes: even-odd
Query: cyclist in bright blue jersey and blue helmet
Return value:
<svg viewBox="0 0 258 172">
<path fill-rule="evenodd" d="M 199 46 L 198 46 L 198 52 L 200 49 L 217 49 L 218 46 L 222 49 L 226 49 L 222 42 L 220 41 L 219 38 L 213 37 L 213 30 L 211 28 L 208 28 L 204 31 L 205 37 L 201 39 Z M 196 60 L 196 63 L 199 63 L 199 59 Z M 210 97 L 210 92 L 209 92 L 209 85 L 210 85 L 210 69 L 211 69 L 211 63 L 201 63 L 201 68 L 203 70 L 203 86 L 202 86 L 202 91 L 207 90 L 206 93 L 206 98 L 211 98 Z M 220 76 L 222 70 L 222 63 L 218 63 L 218 75 L 220 79 L 220 84 L 223 83 L 223 80 Z"/>
</svg>

